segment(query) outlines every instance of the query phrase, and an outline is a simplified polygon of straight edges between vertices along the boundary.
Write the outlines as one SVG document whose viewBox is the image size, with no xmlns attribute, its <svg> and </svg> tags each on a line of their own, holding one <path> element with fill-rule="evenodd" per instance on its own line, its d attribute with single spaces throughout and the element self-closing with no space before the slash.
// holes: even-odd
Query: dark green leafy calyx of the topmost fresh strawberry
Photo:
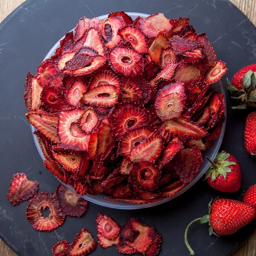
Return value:
<svg viewBox="0 0 256 256">
<path fill-rule="evenodd" d="M 247 106 L 256 107 L 256 72 L 249 70 L 245 73 L 242 82 L 242 89 L 236 88 L 227 79 L 227 83 L 224 83 L 226 88 L 231 93 L 231 98 L 238 100 L 240 105 L 232 106 L 232 109 L 245 109 Z"/>
</svg>

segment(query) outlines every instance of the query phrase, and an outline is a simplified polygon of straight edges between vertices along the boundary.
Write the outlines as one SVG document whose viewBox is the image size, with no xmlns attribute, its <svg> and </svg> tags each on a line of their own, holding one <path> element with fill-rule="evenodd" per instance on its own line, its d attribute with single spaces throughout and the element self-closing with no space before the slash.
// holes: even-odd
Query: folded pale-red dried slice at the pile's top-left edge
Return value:
<svg viewBox="0 0 256 256">
<path fill-rule="evenodd" d="M 98 29 L 99 22 L 100 20 L 98 18 L 89 19 L 89 18 L 86 18 L 85 16 L 80 18 L 79 22 L 77 23 L 74 29 L 74 41 L 76 42 L 77 40 L 79 40 L 83 36 L 85 31 L 87 31 L 87 29 L 89 29 L 90 27 L 94 27 Z"/>
</svg>

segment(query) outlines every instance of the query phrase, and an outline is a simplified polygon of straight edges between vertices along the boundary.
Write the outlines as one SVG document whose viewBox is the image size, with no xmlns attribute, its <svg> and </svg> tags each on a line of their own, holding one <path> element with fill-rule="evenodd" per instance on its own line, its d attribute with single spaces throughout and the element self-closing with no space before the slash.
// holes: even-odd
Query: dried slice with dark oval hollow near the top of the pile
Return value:
<svg viewBox="0 0 256 256">
<path fill-rule="evenodd" d="M 119 16 L 111 16 L 101 23 L 101 34 L 105 40 L 105 46 L 108 48 L 115 47 L 121 37 L 117 34 L 118 29 L 124 26 L 124 19 Z"/>
</svg>

